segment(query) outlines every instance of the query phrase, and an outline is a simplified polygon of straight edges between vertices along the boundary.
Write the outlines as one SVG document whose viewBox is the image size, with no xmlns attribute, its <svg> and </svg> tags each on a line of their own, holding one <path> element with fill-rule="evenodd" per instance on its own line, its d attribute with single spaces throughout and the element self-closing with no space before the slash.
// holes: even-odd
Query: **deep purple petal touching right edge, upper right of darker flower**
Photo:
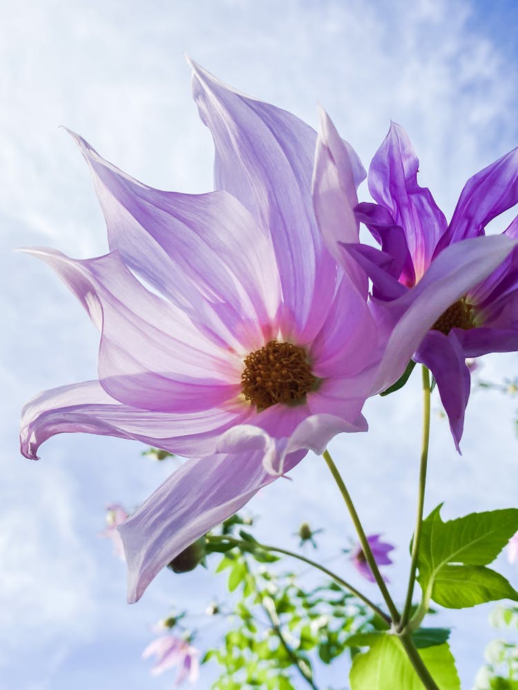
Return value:
<svg viewBox="0 0 518 690">
<path fill-rule="evenodd" d="M 483 235 L 489 221 L 517 202 L 518 148 L 515 148 L 468 179 L 438 251 L 460 239 Z"/>
</svg>

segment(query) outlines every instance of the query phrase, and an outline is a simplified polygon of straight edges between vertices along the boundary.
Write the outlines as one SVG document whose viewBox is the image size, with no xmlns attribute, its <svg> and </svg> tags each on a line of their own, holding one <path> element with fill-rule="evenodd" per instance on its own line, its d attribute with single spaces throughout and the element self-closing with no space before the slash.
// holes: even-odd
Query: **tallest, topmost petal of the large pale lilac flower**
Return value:
<svg viewBox="0 0 518 690">
<path fill-rule="evenodd" d="M 285 307 L 300 332 L 331 302 L 336 279 L 311 201 L 316 132 L 191 66 L 194 99 L 214 139 L 215 187 L 239 199 L 271 233 Z"/>
</svg>

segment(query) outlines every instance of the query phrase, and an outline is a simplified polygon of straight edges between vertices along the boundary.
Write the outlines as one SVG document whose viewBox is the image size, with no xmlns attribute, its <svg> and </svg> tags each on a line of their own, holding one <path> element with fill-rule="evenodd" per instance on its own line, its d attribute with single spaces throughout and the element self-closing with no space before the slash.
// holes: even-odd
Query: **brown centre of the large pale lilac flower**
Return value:
<svg viewBox="0 0 518 690">
<path fill-rule="evenodd" d="M 303 402 L 306 393 L 318 386 L 318 379 L 311 373 L 303 348 L 270 340 L 244 358 L 241 386 L 246 400 L 261 411 L 278 402 Z"/>
</svg>

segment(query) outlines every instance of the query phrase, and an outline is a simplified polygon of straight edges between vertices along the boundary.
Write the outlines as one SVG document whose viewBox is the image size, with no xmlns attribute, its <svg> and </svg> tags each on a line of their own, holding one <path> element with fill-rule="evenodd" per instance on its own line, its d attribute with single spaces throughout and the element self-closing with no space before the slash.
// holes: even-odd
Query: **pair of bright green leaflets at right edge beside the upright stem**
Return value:
<svg viewBox="0 0 518 690">
<path fill-rule="evenodd" d="M 443 522 L 441 506 L 423 521 L 419 584 L 426 601 L 459 609 L 518 600 L 508 581 L 486 568 L 518 531 L 518 509 L 471 513 Z"/>
</svg>

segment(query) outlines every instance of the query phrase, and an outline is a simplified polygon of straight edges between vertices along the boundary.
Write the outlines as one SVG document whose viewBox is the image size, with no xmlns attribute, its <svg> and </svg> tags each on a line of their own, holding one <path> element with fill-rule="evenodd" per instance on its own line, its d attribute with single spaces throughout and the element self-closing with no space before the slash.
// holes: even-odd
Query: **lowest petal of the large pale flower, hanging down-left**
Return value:
<svg viewBox="0 0 518 690">
<path fill-rule="evenodd" d="M 304 455 L 289 455 L 285 471 Z M 187 460 L 117 528 L 128 564 L 128 601 L 140 599 L 175 556 L 275 479 L 265 471 L 257 451 Z"/>
</svg>

